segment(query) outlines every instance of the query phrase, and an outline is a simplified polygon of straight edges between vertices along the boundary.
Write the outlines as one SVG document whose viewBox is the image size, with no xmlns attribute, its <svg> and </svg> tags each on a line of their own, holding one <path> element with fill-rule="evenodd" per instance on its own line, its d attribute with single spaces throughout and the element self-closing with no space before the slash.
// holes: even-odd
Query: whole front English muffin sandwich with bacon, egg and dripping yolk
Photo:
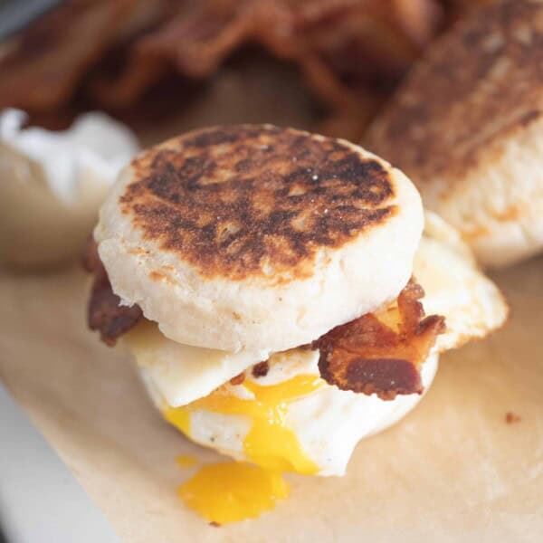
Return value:
<svg viewBox="0 0 543 543">
<path fill-rule="evenodd" d="M 280 497 L 281 472 L 343 475 L 361 438 L 420 400 L 440 352 L 507 317 L 402 172 L 296 129 L 201 129 L 148 149 L 94 238 L 90 329 L 128 348 L 169 423 L 262 468 Z M 247 465 L 207 466 L 183 496 L 215 522 L 256 516 L 232 510 L 243 470 L 258 486 Z M 198 492 L 217 481 L 229 498 L 211 507 Z"/>
</svg>

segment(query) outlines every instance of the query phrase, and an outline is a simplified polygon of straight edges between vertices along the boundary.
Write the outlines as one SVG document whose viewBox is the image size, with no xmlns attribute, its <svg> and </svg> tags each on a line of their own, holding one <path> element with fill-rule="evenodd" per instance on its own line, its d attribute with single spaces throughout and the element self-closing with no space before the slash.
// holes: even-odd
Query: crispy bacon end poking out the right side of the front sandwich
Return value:
<svg viewBox="0 0 543 543">
<path fill-rule="evenodd" d="M 330 330 L 313 343 L 320 351 L 320 376 L 329 385 L 383 400 L 422 394 L 420 366 L 445 330 L 444 318 L 424 318 L 420 285 L 410 281 L 398 296 L 398 329 L 372 313 Z"/>
</svg>

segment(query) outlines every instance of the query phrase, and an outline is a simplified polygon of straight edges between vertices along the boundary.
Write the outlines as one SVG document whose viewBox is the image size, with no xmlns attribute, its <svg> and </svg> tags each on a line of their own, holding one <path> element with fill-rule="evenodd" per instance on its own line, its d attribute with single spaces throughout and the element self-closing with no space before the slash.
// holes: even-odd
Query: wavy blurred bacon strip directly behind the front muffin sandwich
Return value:
<svg viewBox="0 0 543 543">
<path fill-rule="evenodd" d="M 357 139 L 382 96 L 436 33 L 435 0 L 205 0 L 184 5 L 128 55 L 119 78 L 95 81 L 112 107 L 138 100 L 172 70 L 204 79 L 246 43 L 295 62 L 335 115 L 321 129 Z M 405 18 L 408 21 L 405 21 Z M 376 89 L 378 89 L 376 91 Z M 354 120 L 356 119 L 356 120 Z"/>
</svg>

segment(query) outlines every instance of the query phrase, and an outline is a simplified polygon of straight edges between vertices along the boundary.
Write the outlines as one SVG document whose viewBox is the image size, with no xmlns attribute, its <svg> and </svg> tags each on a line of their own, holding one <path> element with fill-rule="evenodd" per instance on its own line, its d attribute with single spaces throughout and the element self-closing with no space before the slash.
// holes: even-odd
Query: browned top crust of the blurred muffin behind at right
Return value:
<svg viewBox="0 0 543 543">
<path fill-rule="evenodd" d="M 500 1 L 435 43 L 365 141 L 424 189 L 490 163 L 542 99 L 543 4 Z"/>
</svg>

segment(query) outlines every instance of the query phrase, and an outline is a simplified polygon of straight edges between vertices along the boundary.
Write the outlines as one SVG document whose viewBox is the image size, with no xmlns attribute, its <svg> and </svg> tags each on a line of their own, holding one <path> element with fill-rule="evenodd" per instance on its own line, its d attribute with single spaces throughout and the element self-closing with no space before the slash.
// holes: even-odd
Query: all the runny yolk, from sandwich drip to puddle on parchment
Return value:
<svg viewBox="0 0 543 543">
<path fill-rule="evenodd" d="M 239 462 L 207 465 L 179 489 L 188 507 L 219 524 L 256 518 L 273 509 L 276 500 L 288 495 L 281 472 L 309 475 L 319 471 L 286 425 L 289 404 L 323 386 L 319 376 L 300 375 L 269 386 L 246 380 L 241 386 L 253 397 L 240 398 L 221 387 L 192 404 L 164 412 L 168 422 L 189 436 L 190 413 L 195 409 L 251 418 L 243 450 L 256 466 Z"/>
</svg>

